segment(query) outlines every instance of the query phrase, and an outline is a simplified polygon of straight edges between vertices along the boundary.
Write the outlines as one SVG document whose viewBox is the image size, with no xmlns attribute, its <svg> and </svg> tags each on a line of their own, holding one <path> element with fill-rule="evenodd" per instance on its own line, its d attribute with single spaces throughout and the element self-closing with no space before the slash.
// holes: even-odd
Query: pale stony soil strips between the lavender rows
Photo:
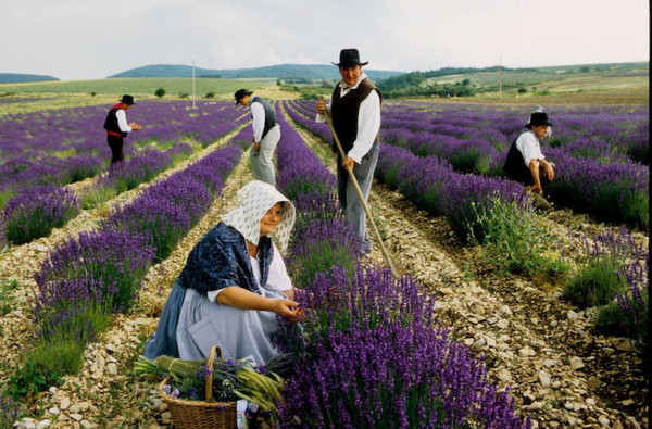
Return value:
<svg viewBox="0 0 652 429">
<path fill-rule="evenodd" d="M 318 144 L 310 134 L 302 136 Z M 43 393 L 33 409 L 38 417 L 23 420 L 21 427 L 170 426 L 171 414 L 158 398 L 155 382 L 131 375 L 130 368 L 155 329 L 188 252 L 234 205 L 236 190 L 251 180 L 246 156 L 223 197 L 175 252 L 150 270 L 130 313 L 117 316 L 102 341 L 88 346 L 82 373 Z M 333 167 L 331 162 L 328 165 Z M 127 201 L 137 192 L 121 199 Z M 563 302 L 557 287 L 497 276 L 481 263 L 478 249 L 454 238 L 443 218 L 416 210 L 398 192 L 375 185 L 369 204 L 397 269 L 437 296 L 442 323 L 484 357 L 492 382 L 511 387 L 517 409 L 531 417 L 534 427 L 648 427 L 647 379 L 629 340 L 595 333 L 591 314 Z M 0 254 L 2 278 L 21 283 L 13 292 L 14 310 L 2 317 L 0 380 L 18 365 L 32 340 L 34 272 L 52 247 L 92 228 L 101 213 L 85 216 L 48 238 Z M 567 229 L 592 235 L 606 228 L 566 211 L 548 217 L 551 234 L 560 239 L 567 237 Z M 384 265 L 378 245 L 368 262 Z"/>
</svg>

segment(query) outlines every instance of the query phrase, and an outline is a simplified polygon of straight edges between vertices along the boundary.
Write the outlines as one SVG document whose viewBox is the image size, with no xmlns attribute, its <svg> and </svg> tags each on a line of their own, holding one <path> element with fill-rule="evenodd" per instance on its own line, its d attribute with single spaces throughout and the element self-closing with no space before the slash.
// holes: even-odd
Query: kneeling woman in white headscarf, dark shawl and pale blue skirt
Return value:
<svg viewBox="0 0 652 429">
<path fill-rule="evenodd" d="M 188 255 L 145 355 L 206 358 L 218 345 L 223 357 L 253 356 L 256 365 L 275 356 L 277 315 L 296 323 L 299 307 L 269 236 L 285 251 L 294 216 L 272 185 L 256 180 L 240 189 L 238 206 Z"/>
</svg>

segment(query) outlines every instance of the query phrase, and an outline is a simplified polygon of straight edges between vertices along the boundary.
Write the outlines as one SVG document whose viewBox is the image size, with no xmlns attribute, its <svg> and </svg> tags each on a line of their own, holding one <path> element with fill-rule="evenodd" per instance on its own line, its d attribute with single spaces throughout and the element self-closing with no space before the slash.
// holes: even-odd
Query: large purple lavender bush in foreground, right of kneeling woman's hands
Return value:
<svg viewBox="0 0 652 429">
<path fill-rule="evenodd" d="M 284 427 L 527 427 L 469 350 L 434 329 L 432 302 L 409 277 L 335 269 L 298 299 L 304 348 L 280 405 Z M 294 351 L 296 352 L 296 351 Z"/>
</svg>

